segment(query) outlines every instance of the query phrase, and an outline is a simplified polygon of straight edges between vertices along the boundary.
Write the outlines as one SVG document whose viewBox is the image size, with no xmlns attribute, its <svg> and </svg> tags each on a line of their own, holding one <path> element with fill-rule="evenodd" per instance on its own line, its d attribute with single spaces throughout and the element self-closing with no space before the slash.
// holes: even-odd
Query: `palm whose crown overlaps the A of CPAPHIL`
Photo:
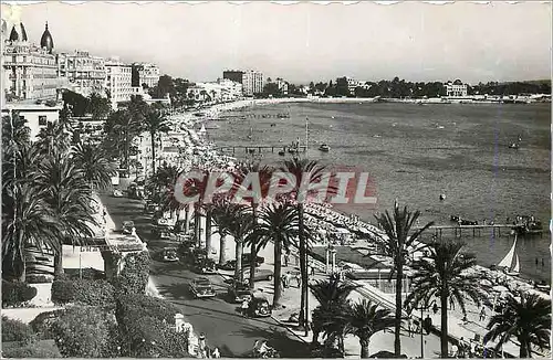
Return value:
<svg viewBox="0 0 553 360">
<path fill-rule="evenodd" d="M 257 224 L 258 223 L 258 208 L 260 205 L 260 202 L 267 197 L 269 189 L 271 187 L 271 180 L 272 180 L 272 174 L 274 172 L 274 169 L 271 167 L 268 167 L 265 165 L 261 165 L 260 162 L 248 162 L 242 165 L 241 167 L 238 168 L 237 173 L 234 174 L 234 184 L 237 184 L 234 191 L 238 190 L 248 190 L 243 189 L 242 183 L 244 182 L 244 179 L 247 179 L 249 176 L 258 177 L 259 184 L 260 184 L 260 194 L 257 194 L 257 197 L 251 197 L 250 198 L 250 208 L 251 212 L 253 215 L 253 222 Z M 252 189 L 253 190 L 253 189 Z M 258 199 L 257 199 L 258 198 Z M 250 272 L 253 274 L 255 269 L 255 258 L 258 256 L 258 246 L 257 246 L 257 241 L 255 236 L 250 236 L 251 239 L 249 240 L 250 243 L 250 253 L 251 253 L 251 258 L 250 258 Z M 254 282 L 253 277 L 250 276 L 250 284 L 249 287 L 253 288 Z"/>
</svg>

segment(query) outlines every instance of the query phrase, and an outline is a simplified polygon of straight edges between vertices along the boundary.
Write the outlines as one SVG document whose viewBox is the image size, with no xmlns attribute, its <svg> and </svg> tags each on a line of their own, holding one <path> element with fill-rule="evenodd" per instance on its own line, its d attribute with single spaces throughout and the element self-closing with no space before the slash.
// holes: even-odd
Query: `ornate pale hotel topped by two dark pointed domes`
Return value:
<svg viewBox="0 0 553 360">
<path fill-rule="evenodd" d="M 8 102 L 55 99 L 60 82 L 48 23 L 40 46 L 29 42 L 23 23 L 14 24 L 7 40 L 4 35 L 2 31 L 2 98 Z"/>
</svg>

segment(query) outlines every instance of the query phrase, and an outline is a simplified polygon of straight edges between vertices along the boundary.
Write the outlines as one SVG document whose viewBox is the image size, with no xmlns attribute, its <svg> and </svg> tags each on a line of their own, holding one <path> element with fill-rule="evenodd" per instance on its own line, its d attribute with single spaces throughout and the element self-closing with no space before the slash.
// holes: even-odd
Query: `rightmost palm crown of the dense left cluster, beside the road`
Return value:
<svg viewBox="0 0 553 360">
<path fill-rule="evenodd" d="M 100 146 L 77 144 L 73 147 L 73 161 L 83 171 L 91 189 L 106 189 L 112 183 L 115 169 Z"/>
</svg>

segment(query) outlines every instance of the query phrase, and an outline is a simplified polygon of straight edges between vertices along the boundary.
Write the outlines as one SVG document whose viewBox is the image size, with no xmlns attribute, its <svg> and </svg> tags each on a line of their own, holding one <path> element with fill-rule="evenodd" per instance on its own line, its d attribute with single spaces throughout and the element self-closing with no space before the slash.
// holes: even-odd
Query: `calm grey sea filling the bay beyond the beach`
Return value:
<svg viewBox="0 0 553 360">
<path fill-rule="evenodd" d="M 290 156 L 279 156 L 279 147 L 307 138 L 302 156 L 368 172 L 376 204 L 335 208 L 371 223 L 396 199 L 421 212 L 420 224 L 451 224 L 451 215 L 504 224 L 533 215 L 545 232 L 518 239 L 521 276 L 551 283 L 551 103 L 288 103 L 228 112 L 206 125 L 208 140 L 219 147 L 275 146 L 253 155 L 226 150 L 237 158 L 279 166 Z M 509 148 L 519 137 L 519 149 Z M 331 150 L 320 151 L 321 144 Z M 490 266 L 507 255 L 514 235 L 469 231 L 461 240 L 480 265 Z"/>
</svg>

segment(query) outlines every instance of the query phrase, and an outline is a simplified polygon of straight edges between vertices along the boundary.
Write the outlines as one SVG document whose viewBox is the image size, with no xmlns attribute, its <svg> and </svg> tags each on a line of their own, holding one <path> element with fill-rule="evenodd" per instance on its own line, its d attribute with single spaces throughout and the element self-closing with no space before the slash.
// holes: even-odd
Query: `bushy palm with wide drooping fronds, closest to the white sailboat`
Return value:
<svg viewBox="0 0 553 360">
<path fill-rule="evenodd" d="M 415 271 L 413 292 L 406 304 L 427 306 L 432 298 L 438 298 L 441 307 L 441 357 L 448 357 L 448 304 L 452 298 L 466 314 L 466 299 L 471 298 L 478 305 L 482 298 L 479 276 L 469 273 L 477 264 L 473 255 L 461 252 L 463 243 L 436 242 L 428 248 L 428 256 L 411 264 Z"/>
</svg>

